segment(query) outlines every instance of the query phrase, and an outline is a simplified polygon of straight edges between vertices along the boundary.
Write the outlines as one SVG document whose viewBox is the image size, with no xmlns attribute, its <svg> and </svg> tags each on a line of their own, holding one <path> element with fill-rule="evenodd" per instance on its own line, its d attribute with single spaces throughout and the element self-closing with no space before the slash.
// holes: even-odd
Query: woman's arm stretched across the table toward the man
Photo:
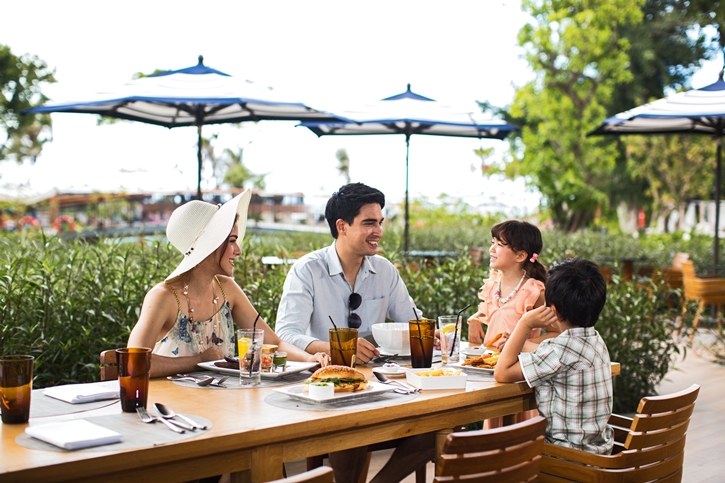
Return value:
<svg viewBox="0 0 725 483">
<path fill-rule="evenodd" d="M 234 323 L 242 329 L 251 329 L 254 326 L 254 320 L 257 318 L 257 310 L 252 306 L 249 298 L 237 282 L 231 278 L 221 276 L 219 276 L 219 280 L 222 281 L 224 293 L 232 306 Z M 280 351 L 287 353 L 289 360 L 317 362 L 323 366 L 327 365 L 328 358 L 325 353 L 308 354 L 296 345 L 283 341 L 261 317 L 257 320 L 257 328 L 264 330 L 264 343 L 277 345 Z"/>
</svg>

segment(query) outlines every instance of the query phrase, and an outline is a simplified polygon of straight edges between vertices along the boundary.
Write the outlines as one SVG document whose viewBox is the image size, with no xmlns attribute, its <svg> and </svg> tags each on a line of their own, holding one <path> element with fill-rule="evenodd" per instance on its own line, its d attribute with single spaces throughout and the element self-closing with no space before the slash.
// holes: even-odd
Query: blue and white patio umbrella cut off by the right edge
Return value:
<svg viewBox="0 0 725 483">
<path fill-rule="evenodd" d="M 720 185 L 722 140 L 725 132 L 725 82 L 659 99 L 606 119 L 588 135 L 703 134 L 714 136 L 717 146 L 715 168 L 714 270 L 719 261 Z"/>
</svg>

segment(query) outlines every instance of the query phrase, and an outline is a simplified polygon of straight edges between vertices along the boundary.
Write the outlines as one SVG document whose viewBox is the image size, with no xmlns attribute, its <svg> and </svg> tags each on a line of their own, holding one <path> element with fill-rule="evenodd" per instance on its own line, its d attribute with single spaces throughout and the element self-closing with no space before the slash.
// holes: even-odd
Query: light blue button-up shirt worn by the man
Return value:
<svg viewBox="0 0 725 483">
<path fill-rule="evenodd" d="M 277 310 L 277 335 L 303 350 L 316 340 L 329 341 L 330 316 L 338 327 L 348 327 L 352 292 L 334 242 L 308 253 L 287 274 Z M 372 325 L 386 318 L 407 322 L 416 313 L 420 315 L 398 270 L 381 256 L 363 259 L 354 292 L 362 297 L 362 304 L 354 311 L 362 319 L 360 337 L 368 337 Z"/>
</svg>

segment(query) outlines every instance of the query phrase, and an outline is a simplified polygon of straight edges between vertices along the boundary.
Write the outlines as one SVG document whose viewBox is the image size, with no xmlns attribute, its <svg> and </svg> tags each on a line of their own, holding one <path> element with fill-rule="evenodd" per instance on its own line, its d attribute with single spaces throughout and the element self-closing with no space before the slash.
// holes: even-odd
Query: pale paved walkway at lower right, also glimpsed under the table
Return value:
<svg viewBox="0 0 725 483">
<path fill-rule="evenodd" d="M 684 359 L 679 356 L 675 367 L 659 385 L 659 394 L 670 394 L 699 384 L 700 394 L 687 432 L 685 468 L 682 481 L 686 483 L 725 482 L 725 366 L 710 360 L 709 353 L 695 342 Z M 624 367 L 622 370 L 626 370 Z M 390 457 L 392 450 L 374 453 L 368 480 Z M 289 475 L 304 471 L 303 460 L 287 464 Z M 434 467 L 428 464 L 427 481 L 432 481 Z M 410 475 L 403 483 L 415 483 Z"/>
</svg>

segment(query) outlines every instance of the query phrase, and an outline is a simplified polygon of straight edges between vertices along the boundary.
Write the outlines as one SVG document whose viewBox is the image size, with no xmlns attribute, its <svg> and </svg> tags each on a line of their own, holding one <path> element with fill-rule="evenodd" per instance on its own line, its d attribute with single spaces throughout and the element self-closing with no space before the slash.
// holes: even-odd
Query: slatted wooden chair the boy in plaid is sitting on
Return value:
<svg viewBox="0 0 725 483">
<path fill-rule="evenodd" d="M 667 396 L 644 397 L 634 418 L 612 415 L 612 455 L 544 444 L 539 482 L 609 483 L 682 481 L 685 434 L 700 386 Z"/>
</svg>

